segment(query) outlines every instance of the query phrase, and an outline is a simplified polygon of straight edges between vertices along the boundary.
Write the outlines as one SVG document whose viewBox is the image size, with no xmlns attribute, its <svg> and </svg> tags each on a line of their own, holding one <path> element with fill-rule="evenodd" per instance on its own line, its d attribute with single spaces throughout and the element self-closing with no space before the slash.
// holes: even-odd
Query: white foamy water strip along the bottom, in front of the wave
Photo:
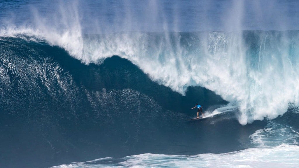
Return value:
<svg viewBox="0 0 299 168">
<path fill-rule="evenodd" d="M 299 146 L 282 144 L 272 148 L 250 148 L 222 154 L 194 156 L 142 154 L 125 158 L 102 158 L 74 162 L 52 168 L 100 167 L 213 167 L 213 168 L 295 168 L 299 165 Z"/>
</svg>

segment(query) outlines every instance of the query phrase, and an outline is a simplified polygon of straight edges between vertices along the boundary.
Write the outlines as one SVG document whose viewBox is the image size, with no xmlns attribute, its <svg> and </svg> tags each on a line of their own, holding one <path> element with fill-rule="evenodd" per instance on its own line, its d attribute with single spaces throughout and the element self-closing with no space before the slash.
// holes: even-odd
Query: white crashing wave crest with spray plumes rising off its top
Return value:
<svg viewBox="0 0 299 168">
<path fill-rule="evenodd" d="M 239 26 L 234 31 L 170 32 L 176 29 L 164 24 L 160 33 L 136 31 L 140 28 L 113 33 L 106 31 L 109 26 L 126 27 L 132 19 L 129 4 L 125 3 L 128 9 L 121 11 L 125 20 L 120 21 L 119 15 L 108 27 L 91 24 L 92 18 L 82 22 L 79 2 L 61 4 L 54 14 L 33 10 L 33 19 L 27 24 L 7 22 L 0 36 L 46 41 L 85 64 L 100 64 L 118 55 L 137 65 L 153 81 L 183 95 L 188 86 L 214 91 L 236 104 L 241 124 L 275 118 L 286 112 L 290 103 L 298 106 L 298 31 L 241 31 L 242 19 L 237 19 L 235 25 Z M 235 12 L 242 14 L 239 7 L 244 4 L 233 4 Z M 163 14 L 157 4 L 149 7 Z M 128 24 L 134 25 L 132 21 Z M 91 29 L 93 25 L 101 26 Z"/>
</svg>

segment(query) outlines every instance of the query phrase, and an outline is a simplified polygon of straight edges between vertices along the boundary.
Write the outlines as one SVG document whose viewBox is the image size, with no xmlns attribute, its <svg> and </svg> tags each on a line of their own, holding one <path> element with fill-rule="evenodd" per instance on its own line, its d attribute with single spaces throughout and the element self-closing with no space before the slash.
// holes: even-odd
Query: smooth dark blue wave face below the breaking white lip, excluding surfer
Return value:
<svg viewBox="0 0 299 168">
<path fill-rule="evenodd" d="M 43 41 L 1 37 L 0 43 L 4 167 L 18 167 L 19 163 L 45 167 L 143 153 L 197 155 L 298 145 L 298 107 L 294 104 L 283 117 L 242 126 L 236 117 L 241 113 L 236 102 L 229 103 L 217 92 L 199 86 L 187 87 L 182 95 L 152 81 L 154 77 L 128 59 L 113 56 L 101 64 L 85 65 Z M 221 87 L 217 90 L 222 91 Z M 187 119 L 196 116 L 196 110 L 190 108 L 198 102 L 205 115 L 213 117 L 190 122 Z M 275 153 L 276 148 L 273 150 Z M 20 162 L 15 163 L 14 158 Z"/>
</svg>

